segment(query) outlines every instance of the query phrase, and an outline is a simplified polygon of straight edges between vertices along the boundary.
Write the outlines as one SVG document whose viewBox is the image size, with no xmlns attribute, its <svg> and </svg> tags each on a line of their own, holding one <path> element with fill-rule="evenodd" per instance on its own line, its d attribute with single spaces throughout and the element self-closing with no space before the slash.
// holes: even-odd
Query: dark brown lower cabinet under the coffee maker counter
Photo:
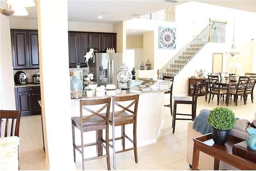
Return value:
<svg viewBox="0 0 256 171">
<path fill-rule="evenodd" d="M 16 109 L 21 110 L 21 115 L 40 114 L 41 107 L 38 100 L 41 100 L 40 86 L 14 87 Z"/>
</svg>

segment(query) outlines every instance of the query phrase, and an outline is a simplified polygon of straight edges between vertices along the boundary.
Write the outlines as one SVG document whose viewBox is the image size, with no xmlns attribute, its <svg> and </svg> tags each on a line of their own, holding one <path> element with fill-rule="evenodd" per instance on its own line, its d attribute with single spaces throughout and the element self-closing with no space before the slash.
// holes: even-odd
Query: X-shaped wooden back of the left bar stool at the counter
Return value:
<svg viewBox="0 0 256 171">
<path fill-rule="evenodd" d="M 80 100 L 81 132 L 83 132 L 84 129 L 86 129 L 86 131 L 96 130 L 96 127 L 104 129 L 106 125 L 108 125 L 110 101 L 110 97 L 106 99 Z M 89 113 L 89 115 L 84 115 L 83 110 L 85 110 L 85 113 Z M 90 126 L 91 129 L 89 129 Z"/>
</svg>

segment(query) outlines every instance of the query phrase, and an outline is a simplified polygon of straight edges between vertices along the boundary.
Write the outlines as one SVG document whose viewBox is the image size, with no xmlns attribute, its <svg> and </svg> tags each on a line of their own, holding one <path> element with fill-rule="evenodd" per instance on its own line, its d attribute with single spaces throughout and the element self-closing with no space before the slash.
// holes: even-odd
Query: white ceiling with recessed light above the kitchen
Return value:
<svg viewBox="0 0 256 171">
<path fill-rule="evenodd" d="M 179 0 L 179 2 L 175 3 L 170 2 L 172 0 L 167 1 L 168 2 L 165 0 L 68 0 L 68 20 L 77 22 L 116 23 L 130 20 L 140 15 L 162 10 L 164 8 L 189 2 L 187 0 Z M 256 12 L 256 0 L 197 1 L 239 10 Z M 4 1 L 2 0 L 1 6 L 5 6 Z M 28 16 L 10 16 L 10 18 L 37 18 L 37 6 L 26 9 L 29 14 Z M 103 16 L 103 18 L 98 19 L 97 16 Z"/>
</svg>

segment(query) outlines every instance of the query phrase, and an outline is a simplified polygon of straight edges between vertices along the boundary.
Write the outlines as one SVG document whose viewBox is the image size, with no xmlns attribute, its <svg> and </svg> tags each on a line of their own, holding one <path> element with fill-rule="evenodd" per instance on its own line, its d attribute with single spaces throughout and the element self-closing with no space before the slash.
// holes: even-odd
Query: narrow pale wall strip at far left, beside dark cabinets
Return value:
<svg viewBox="0 0 256 171">
<path fill-rule="evenodd" d="M 0 15 L 0 109 L 15 110 L 9 18 Z"/>
</svg>

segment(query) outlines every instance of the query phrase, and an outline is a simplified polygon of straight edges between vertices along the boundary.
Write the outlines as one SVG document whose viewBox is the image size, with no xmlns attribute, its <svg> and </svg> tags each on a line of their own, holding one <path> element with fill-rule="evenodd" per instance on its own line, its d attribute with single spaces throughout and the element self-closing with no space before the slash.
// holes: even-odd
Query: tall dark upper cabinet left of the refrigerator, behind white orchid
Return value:
<svg viewBox="0 0 256 171">
<path fill-rule="evenodd" d="M 85 64 L 86 51 L 88 49 L 88 34 L 82 32 L 68 32 L 69 67 L 77 65 L 87 67 Z"/>
</svg>

